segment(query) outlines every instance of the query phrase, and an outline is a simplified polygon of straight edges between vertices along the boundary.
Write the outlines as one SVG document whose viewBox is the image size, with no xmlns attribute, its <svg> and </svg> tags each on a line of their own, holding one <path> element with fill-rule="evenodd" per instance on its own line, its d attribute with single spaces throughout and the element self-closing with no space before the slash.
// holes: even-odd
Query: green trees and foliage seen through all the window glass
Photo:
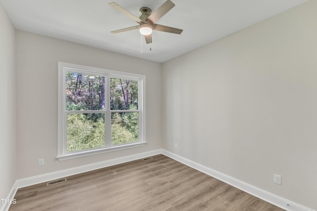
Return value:
<svg viewBox="0 0 317 211">
<path fill-rule="evenodd" d="M 105 77 L 66 73 L 67 152 L 105 146 L 106 109 Z M 139 113 L 124 112 L 138 109 L 138 81 L 110 78 L 111 144 L 137 142 Z M 85 113 L 85 111 L 94 111 Z M 107 131 L 106 131 L 107 132 Z"/>
</svg>

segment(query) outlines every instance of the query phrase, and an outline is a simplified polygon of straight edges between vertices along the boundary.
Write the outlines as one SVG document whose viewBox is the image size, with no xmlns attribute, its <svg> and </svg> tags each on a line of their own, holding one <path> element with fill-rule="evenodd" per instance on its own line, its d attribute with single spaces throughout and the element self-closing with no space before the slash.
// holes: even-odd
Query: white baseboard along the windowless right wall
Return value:
<svg viewBox="0 0 317 211">
<path fill-rule="evenodd" d="M 206 174 L 208 174 L 208 175 L 210 175 L 210 176 L 212 176 L 212 177 L 214 177 L 216 179 L 219 179 L 219 180 L 221 180 L 221 181 L 223 181 L 223 182 L 225 182 L 225 183 L 227 183 L 229 185 L 232 185 L 232 186 L 234 186 L 234 187 L 236 187 L 236 188 L 238 188 L 238 189 L 240 189 L 240 190 L 242 190 L 244 192 L 247 192 L 247 193 L 249 193 L 249 194 L 251 194 L 251 195 L 253 195 L 253 196 L 257 197 L 257 198 L 260 198 L 260 199 L 262 199 L 262 200 L 264 200 L 264 201 L 266 201 L 266 202 L 268 202 L 268 203 L 270 203 L 272 205 L 275 205 L 275 206 L 277 206 L 279 208 L 282 208 L 282 209 L 284 209 L 286 211 L 314 211 L 312 209 L 309 209 L 309 208 L 306 208 L 306 207 L 304 207 L 302 205 L 299 205 L 299 204 L 297 204 L 295 202 L 291 202 L 291 201 L 289 201 L 287 199 L 284 199 L 282 197 L 279 197 L 277 195 L 269 193 L 269 192 L 267 192 L 265 190 L 257 188 L 257 187 L 255 187 L 253 185 L 250 185 L 248 183 L 245 183 L 243 181 L 235 179 L 235 178 L 233 178 L 231 176 L 223 174 L 223 173 L 221 173 L 219 171 L 210 169 L 210 168 L 205 167 L 205 166 L 203 166 L 201 164 L 198 164 L 196 162 L 193 162 L 191 160 L 183 158 L 183 157 L 181 157 L 179 155 L 176 155 L 174 153 L 171 153 L 169 151 L 166 151 L 166 150 L 162 149 L 162 154 L 167 156 L 167 157 L 170 157 L 170 158 L 172 158 L 172 159 L 174 159 L 174 160 L 176 160 L 176 161 L 178 161 L 178 162 L 180 162 L 182 164 L 185 164 L 186 166 L 189 166 L 189 167 L 191 167 L 193 169 L 196 169 L 196 170 L 199 170 L 199 171 L 201 171 L 203 173 L 206 173 Z"/>
</svg>

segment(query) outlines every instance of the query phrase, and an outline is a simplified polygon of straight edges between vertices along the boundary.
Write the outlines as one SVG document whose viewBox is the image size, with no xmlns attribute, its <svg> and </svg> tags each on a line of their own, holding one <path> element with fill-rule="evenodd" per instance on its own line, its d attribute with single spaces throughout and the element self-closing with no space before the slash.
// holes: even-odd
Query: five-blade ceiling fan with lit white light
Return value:
<svg viewBox="0 0 317 211">
<path fill-rule="evenodd" d="M 132 26 L 124 29 L 119 29 L 112 31 L 111 33 L 116 34 L 120 32 L 126 32 L 134 29 L 139 29 L 140 33 L 144 35 L 145 41 L 147 44 L 152 42 L 152 30 L 160 31 L 160 32 L 168 32 L 173 34 L 180 35 L 182 33 L 182 29 L 176 29 L 169 26 L 159 25 L 156 24 L 156 22 L 163 17 L 171 8 L 175 6 L 175 4 L 167 0 L 165 1 L 156 11 L 152 13 L 152 10 L 149 7 L 142 7 L 140 8 L 140 17 L 137 17 L 133 15 L 128 10 L 124 9 L 123 7 L 119 6 L 115 2 L 109 3 L 110 6 L 114 7 L 118 11 L 122 12 L 124 15 L 128 16 L 135 22 L 137 22 L 139 25 Z"/>
</svg>

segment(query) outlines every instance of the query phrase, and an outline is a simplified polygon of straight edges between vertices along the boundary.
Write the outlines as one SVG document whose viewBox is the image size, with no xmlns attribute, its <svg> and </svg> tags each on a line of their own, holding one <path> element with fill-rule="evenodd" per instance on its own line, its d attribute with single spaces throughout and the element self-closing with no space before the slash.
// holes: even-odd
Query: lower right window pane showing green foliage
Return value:
<svg viewBox="0 0 317 211">
<path fill-rule="evenodd" d="M 111 144 L 139 141 L 139 112 L 111 114 Z"/>
</svg>

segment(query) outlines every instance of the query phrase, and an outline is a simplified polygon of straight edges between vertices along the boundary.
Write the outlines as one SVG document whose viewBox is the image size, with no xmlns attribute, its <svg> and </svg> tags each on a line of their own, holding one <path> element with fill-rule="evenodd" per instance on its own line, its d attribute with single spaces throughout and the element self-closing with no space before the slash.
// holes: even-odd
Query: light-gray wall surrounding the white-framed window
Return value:
<svg viewBox="0 0 317 211">
<path fill-rule="evenodd" d="M 128 150 L 58 161 L 57 62 L 146 75 L 146 140 Z M 161 148 L 161 64 L 73 42 L 16 31 L 17 178 Z M 38 166 L 38 159 L 45 166 Z"/>
</svg>

